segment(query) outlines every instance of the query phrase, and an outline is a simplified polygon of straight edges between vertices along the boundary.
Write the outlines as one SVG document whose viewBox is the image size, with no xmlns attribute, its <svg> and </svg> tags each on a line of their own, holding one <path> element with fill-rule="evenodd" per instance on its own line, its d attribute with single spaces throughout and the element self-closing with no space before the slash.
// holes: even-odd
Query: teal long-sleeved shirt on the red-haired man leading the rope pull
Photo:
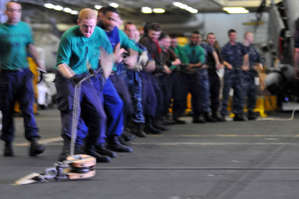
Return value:
<svg viewBox="0 0 299 199">
<path fill-rule="evenodd" d="M 62 35 L 57 51 L 56 67 L 59 64 L 68 64 L 77 74 L 88 73 L 87 60 L 92 69 L 97 69 L 100 47 L 108 54 L 113 54 L 113 49 L 106 33 L 95 26 L 93 34 L 87 38 L 76 25 Z M 101 52 L 104 53 L 104 52 Z"/>
</svg>

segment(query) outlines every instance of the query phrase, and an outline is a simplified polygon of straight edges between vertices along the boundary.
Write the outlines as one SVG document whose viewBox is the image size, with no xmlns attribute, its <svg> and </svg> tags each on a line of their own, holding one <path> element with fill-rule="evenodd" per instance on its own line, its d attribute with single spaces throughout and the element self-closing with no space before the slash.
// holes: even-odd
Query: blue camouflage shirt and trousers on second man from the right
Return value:
<svg viewBox="0 0 299 199">
<path fill-rule="evenodd" d="M 244 106 L 244 73 L 242 72 L 243 56 L 247 54 L 246 47 L 237 42 L 232 46 L 230 43 L 225 44 L 222 48 L 222 58 L 233 66 L 229 70 L 225 68 L 224 72 L 224 85 L 222 91 L 222 108 L 220 114 L 227 113 L 228 95 L 231 88 L 234 89 L 233 97 L 233 113 L 242 114 Z"/>
</svg>

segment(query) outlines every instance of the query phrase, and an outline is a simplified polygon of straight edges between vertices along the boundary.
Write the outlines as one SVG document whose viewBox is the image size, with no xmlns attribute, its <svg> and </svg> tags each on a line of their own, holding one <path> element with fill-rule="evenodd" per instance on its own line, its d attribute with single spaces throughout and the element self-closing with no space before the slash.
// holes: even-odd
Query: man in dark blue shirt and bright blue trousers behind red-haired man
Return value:
<svg viewBox="0 0 299 199">
<path fill-rule="evenodd" d="M 103 12 L 103 19 L 98 23 L 98 26 L 106 32 L 110 40 L 115 60 L 118 60 L 120 50 L 119 32 L 116 27 L 118 19 L 118 10 L 109 6 Z M 132 114 L 133 106 L 125 82 L 115 73 L 116 71 L 117 68 L 114 64 L 112 73 L 103 88 L 104 109 L 107 114 L 107 149 L 117 152 L 132 152 L 131 147 L 122 145 L 119 140 L 124 129 L 124 119 L 128 114 Z"/>
</svg>

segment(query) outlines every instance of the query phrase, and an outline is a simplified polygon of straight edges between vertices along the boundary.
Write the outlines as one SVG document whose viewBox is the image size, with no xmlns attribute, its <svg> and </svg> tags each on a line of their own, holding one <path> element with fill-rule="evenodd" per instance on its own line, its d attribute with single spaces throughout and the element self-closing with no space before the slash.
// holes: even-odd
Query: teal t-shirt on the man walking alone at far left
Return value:
<svg viewBox="0 0 299 199">
<path fill-rule="evenodd" d="M 18 25 L 0 25 L 0 69 L 18 70 L 28 67 L 27 46 L 34 44 L 30 26 L 25 22 Z"/>
</svg>

